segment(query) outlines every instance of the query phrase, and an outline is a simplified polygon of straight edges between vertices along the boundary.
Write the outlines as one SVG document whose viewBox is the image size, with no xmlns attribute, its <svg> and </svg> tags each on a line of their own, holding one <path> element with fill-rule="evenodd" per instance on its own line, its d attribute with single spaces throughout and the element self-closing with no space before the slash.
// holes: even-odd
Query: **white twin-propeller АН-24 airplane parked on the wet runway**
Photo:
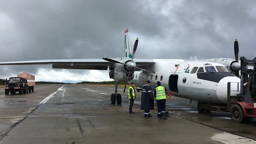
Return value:
<svg viewBox="0 0 256 144">
<path fill-rule="evenodd" d="M 226 105 L 227 83 L 240 82 L 238 62 L 238 41 L 235 40 L 235 59 L 138 59 L 134 58 L 138 38 L 133 52 L 130 48 L 128 29 L 124 32 L 124 57 L 95 58 L 95 59 L 54 59 L 31 60 L 17 62 L 0 62 L 0 65 L 40 65 L 52 64 L 53 69 L 86 69 L 108 70 L 110 79 L 114 79 L 115 92 L 111 94 L 111 103 L 121 104 L 122 95 L 117 94 L 118 82 L 143 87 L 147 80 L 151 82 L 152 90 L 156 82 L 168 88 L 166 92 L 176 91 L 175 96 L 198 102 L 198 112 L 203 112 L 201 103 Z M 157 72 L 156 72 L 157 71 Z M 124 87 L 124 92 L 126 90 Z M 237 84 L 231 83 L 231 90 L 238 89 Z M 239 86 L 240 89 L 240 86 Z M 240 90 L 239 90 L 240 91 Z M 239 94 L 231 91 L 231 95 Z"/>
</svg>

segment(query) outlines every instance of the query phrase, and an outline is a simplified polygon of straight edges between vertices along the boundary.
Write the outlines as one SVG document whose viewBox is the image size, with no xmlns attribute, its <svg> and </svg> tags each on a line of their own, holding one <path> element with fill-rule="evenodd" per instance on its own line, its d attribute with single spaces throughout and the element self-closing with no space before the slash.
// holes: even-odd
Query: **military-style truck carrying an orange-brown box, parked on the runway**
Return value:
<svg viewBox="0 0 256 144">
<path fill-rule="evenodd" d="M 28 92 L 34 92 L 35 76 L 28 73 L 18 74 L 17 77 L 11 77 L 6 79 L 5 95 L 15 94 L 17 91 L 19 94 L 26 94 Z"/>
</svg>

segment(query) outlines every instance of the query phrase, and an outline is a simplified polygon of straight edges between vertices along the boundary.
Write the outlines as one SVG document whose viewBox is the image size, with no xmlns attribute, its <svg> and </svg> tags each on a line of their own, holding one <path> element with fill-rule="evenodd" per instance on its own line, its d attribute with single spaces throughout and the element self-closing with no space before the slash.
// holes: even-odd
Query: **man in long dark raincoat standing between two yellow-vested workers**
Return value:
<svg viewBox="0 0 256 144">
<path fill-rule="evenodd" d="M 149 110 L 154 110 L 154 97 L 152 93 L 152 89 L 150 87 L 150 81 L 146 81 L 146 84 L 143 86 L 142 89 L 142 97 L 140 103 L 140 110 L 144 110 L 144 117 L 150 118 Z"/>
</svg>

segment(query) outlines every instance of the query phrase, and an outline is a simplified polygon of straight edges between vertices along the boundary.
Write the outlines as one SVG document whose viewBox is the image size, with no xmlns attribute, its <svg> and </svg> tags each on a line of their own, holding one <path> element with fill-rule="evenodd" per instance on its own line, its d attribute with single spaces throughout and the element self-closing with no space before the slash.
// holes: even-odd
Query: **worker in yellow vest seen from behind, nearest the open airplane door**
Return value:
<svg viewBox="0 0 256 144">
<path fill-rule="evenodd" d="M 158 81 L 156 82 L 157 87 L 155 88 L 154 91 L 154 97 L 156 98 L 156 103 L 158 106 L 158 117 L 159 119 L 167 119 L 165 117 L 165 102 L 166 102 L 166 95 L 165 95 L 165 87 L 161 86 L 161 82 Z"/>
</svg>

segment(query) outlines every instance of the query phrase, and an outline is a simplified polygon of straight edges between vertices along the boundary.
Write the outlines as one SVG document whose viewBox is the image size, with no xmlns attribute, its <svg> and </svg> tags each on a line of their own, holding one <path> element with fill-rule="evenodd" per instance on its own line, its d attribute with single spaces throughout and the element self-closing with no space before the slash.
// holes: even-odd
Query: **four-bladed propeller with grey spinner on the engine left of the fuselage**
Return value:
<svg viewBox="0 0 256 144">
<path fill-rule="evenodd" d="M 126 79 L 126 84 L 127 84 L 127 81 L 128 81 L 128 77 L 129 77 L 129 75 L 130 75 L 130 71 L 133 71 L 133 70 L 135 70 L 136 68 L 137 68 L 137 69 L 144 70 L 144 71 L 147 71 L 147 72 L 149 72 L 149 73 L 157 74 L 157 72 L 155 72 L 155 71 L 139 68 L 139 67 L 136 66 L 136 63 L 133 62 L 134 55 L 135 55 L 135 52 L 136 52 L 136 50 L 137 50 L 138 42 L 139 42 L 139 38 L 137 38 L 136 41 L 135 41 L 135 43 L 134 43 L 133 53 L 132 53 L 132 61 L 127 62 L 126 64 L 121 63 L 121 62 L 118 62 L 118 61 L 113 60 L 113 59 L 102 58 L 102 59 L 104 59 L 104 60 L 106 60 L 106 61 L 108 61 L 108 62 L 119 63 L 119 64 L 126 65 L 127 70 L 129 70 L 129 73 L 128 73 L 128 76 L 127 76 L 127 79 Z M 125 92 L 125 90 L 126 90 L 126 84 L 125 84 L 125 86 L 124 86 L 123 94 L 124 94 L 124 92 Z"/>
</svg>

